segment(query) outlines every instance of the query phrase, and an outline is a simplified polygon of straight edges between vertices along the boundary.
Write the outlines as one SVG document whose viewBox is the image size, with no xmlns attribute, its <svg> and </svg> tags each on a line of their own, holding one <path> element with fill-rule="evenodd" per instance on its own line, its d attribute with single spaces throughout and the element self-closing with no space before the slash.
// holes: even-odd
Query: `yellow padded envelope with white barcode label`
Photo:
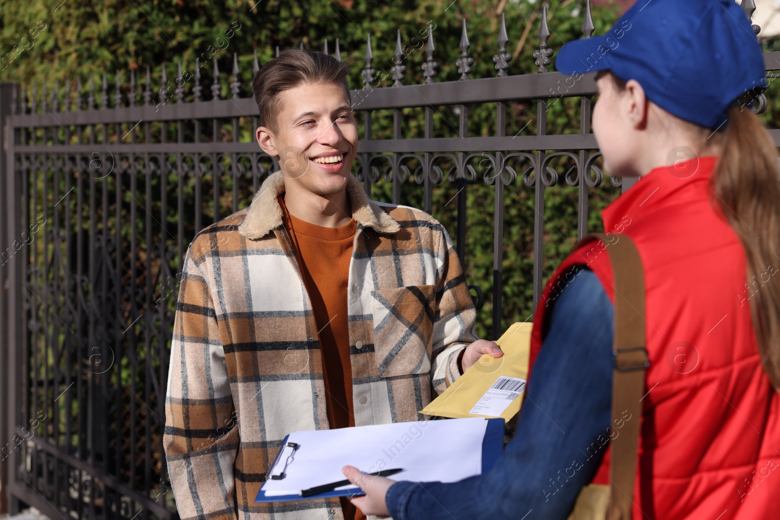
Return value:
<svg viewBox="0 0 780 520">
<path fill-rule="evenodd" d="M 496 341 L 504 351 L 504 356 L 494 358 L 484 354 L 420 412 L 453 419 L 512 419 L 520 411 L 528 379 L 531 327 L 532 324 L 527 322 L 512 324 Z"/>
</svg>

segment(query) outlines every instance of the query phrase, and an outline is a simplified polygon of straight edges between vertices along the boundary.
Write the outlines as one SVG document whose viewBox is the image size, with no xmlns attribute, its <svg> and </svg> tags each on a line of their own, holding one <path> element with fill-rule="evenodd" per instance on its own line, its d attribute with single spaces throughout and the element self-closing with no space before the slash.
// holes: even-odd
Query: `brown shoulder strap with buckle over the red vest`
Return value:
<svg viewBox="0 0 780 520">
<path fill-rule="evenodd" d="M 615 363 L 612 383 L 612 428 L 622 419 L 619 434 L 612 440 L 612 482 L 608 520 L 630 520 L 636 479 L 636 453 L 639 448 L 640 418 L 644 393 L 644 372 L 650 361 L 645 348 L 644 271 L 633 241 L 626 235 L 608 239 L 594 233 L 582 239 L 601 240 L 612 260 L 615 292 L 615 338 L 612 359 Z"/>
</svg>

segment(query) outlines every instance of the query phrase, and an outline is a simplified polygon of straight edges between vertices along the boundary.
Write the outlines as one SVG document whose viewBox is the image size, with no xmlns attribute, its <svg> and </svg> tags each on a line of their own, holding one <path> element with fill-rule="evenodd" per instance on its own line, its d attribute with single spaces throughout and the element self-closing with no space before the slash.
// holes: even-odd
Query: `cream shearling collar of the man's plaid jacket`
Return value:
<svg viewBox="0 0 780 520">
<path fill-rule="evenodd" d="M 271 229 L 282 225 L 282 207 L 276 197 L 285 190 L 282 171 L 279 170 L 265 179 L 260 190 L 246 211 L 246 218 L 239 225 L 239 233 L 247 239 L 261 239 Z M 371 227 L 381 233 L 395 233 L 401 225 L 390 215 L 372 202 L 360 186 L 360 181 L 349 175 L 346 193 L 352 206 L 352 218 L 364 227 Z"/>
</svg>

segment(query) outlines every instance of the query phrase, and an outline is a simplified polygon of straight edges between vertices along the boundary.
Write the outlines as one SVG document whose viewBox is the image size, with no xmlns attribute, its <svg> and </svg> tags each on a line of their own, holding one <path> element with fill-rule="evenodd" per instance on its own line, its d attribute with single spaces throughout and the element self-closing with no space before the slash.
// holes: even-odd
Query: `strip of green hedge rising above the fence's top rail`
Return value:
<svg viewBox="0 0 780 520">
<path fill-rule="evenodd" d="M 367 34 L 371 34 L 374 44 L 374 68 L 389 73 L 395 33 L 401 30 L 402 44 L 409 49 L 405 83 L 421 83 L 428 23 L 434 26 L 435 57 L 440 63 L 436 80 L 456 80 L 455 60 L 459 58 L 464 16 L 469 24 L 470 55 L 475 60 L 472 77 L 481 78 L 495 75 L 492 56 L 498 51 L 500 11 L 507 16 L 510 52 L 516 50 L 530 21 L 527 38 L 509 69 L 512 74 L 528 73 L 535 69 L 533 51 L 538 46 L 535 34 L 539 21 L 534 12 L 540 12 L 541 7 L 530 3 L 534 5 L 525 0 L 457 0 L 452 4 L 444 0 L 66 0 L 53 8 L 51 2 L 43 0 L 3 0 L 0 80 L 25 85 L 45 82 L 51 87 L 54 80 L 62 83 L 66 78 L 73 80 L 103 71 L 113 79 L 113 72 L 120 70 L 126 83 L 129 69 L 148 65 L 154 73 L 153 84 L 158 85 L 164 62 L 181 60 L 185 69 L 193 69 L 195 58 L 203 64 L 204 58 L 216 55 L 222 72 L 229 73 L 235 51 L 247 87 L 252 75 L 252 51 L 257 50 L 263 63 L 273 57 L 276 46 L 303 43 L 306 48 L 319 49 L 328 38 L 332 51 L 338 37 L 342 58 L 353 64 L 352 85 L 359 87 Z M 582 4 L 581 0 L 550 2 L 548 43 L 552 48 L 581 36 Z M 614 19 L 612 9 L 594 8 L 597 34 Z M 211 64 L 205 65 L 209 66 L 206 76 L 210 76 Z M 171 73 L 169 70 L 168 77 Z M 226 87 L 226 78 L 223 83 Z"/>
</svg>

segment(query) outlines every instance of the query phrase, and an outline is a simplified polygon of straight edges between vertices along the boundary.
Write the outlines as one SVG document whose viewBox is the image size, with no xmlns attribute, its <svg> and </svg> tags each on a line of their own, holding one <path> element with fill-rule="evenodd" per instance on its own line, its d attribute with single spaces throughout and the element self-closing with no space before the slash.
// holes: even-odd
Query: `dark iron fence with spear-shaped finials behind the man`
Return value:
<svg viewBox="0 0 780 520">
<path fill-rule="evenodd" d="M 583 34 L 590 37 L 586 5 Z M 588 232 L 589 196 L 604 182 L 590 133 L 593 75 L 563 81 L 548 72 L 546 14 L 544 8 L 535 74 L 506 72 L 512 56 L 502 18 L 495 77 L 470 77 L 464 22 L 459 80 L 437 81 L 441 52 L 434 53 L 429 26 L 424 83 L 406 84 L 400 35 L 386 71 L 372 66 L 369 37 L 363 89 L 352 92 L 362 135 L 354 175 L 374 198 L 411 200 L 454 228 L 466 265 L 467 197 L 490 192 L 484 213 L 492 219 L 493 275 L 471 282 L 477 306 L 490 301 L 493 338 L 506 325 L 508 190 L 521 197 L 512 203 L 534 208 L 533 221 L 521 225 L 532 235 L 527 284 L 535 306 L 544 274 L 545 190 L 576 189 L 571 218 L 579 238 Z M 780 69 L 780 53 L 764 56 L 768 70 Z M 134 73 L 124 84 L 118 73 L 112 92 L 105 74 L 97 90 L 90 80 L 86 93 L 80 79 L 75 91 L 71 82 L 41 92 L 0 85 L 0 416 L 7 418 L 0 460 L 12 511 L 31 504 L 50 518 L 177 516 L 161 443 L 177 274 L 193 235 L 246 207 L 278 169 L 254 142 L 257 105 L 239 81 L 235 56 L 233 63 L 229 93 L 216 62 L 210 82 L 200 62 L 190 76 L 179 65 L 173 83 L 163 68 L 158 89 L 148 69 L 143 84 Z M 392 86 L 378 87 L 381 80 Z M 577 116 L 571 132 L 548 135 L 548 111 L 563 100 Z M 508 107 L 516 106 L 530 112 L 533 132 L 508 135 Z M 474 135 L 470 114 L 477 111 L 490 112 L 492 135 L 484 127 Z M 387 139 L 372 130 L 381 118 L 392 119 Z M 605 184 L 619 187 L 621 179 Z M 441 189 L 454 195 L 434 207 Z"/>
</svg>

